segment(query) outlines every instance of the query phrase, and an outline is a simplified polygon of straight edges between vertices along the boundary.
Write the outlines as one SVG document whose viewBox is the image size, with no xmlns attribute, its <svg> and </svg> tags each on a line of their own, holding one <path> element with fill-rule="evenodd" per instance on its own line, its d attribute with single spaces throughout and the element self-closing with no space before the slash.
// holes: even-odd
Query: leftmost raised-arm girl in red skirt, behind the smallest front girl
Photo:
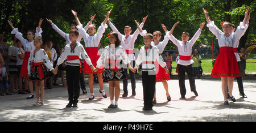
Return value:
<svg viewBox="0 0 256 133">
<path fill-rule="evenodd" d="M 9 20 L 8 20 L 8 22 L 9 22 L 11 28 L 13 29 L 13 31 L 11 31 L 11 34 L 15 34 L 15 37 L 18 38 L 22 42 L 22 45 L 23 45 L 23 48 L 25 51 L 25 57 L 23 59 L 23 63 L 22 63 L 23 65 L 22 65 L 19 76 L 25 78 L 25 84 L 24 84 L 25 90 L 27 90 L 27 85 L 28 85 L 28 88 L 30 89 L 30 96 L 28 96 L 27 99 L 30 99 L 30 98 L 34 97 L 34 93 L 33 93 L 33 83 L 32 83 L 32 81 L 28 81 L 29 75 L 28 75 L 28 71 L 27 71 L 27 64 L 28 64 L 28 58 L 30 58 L 30 52 L 35 49 L 34 37 L 38 37 L 38 36 L 42 37 L 41 33 L 43 31 L 42 31 L 42 28 L 40 28 L 40 27 L 43 22 L 43 19 L 39 20 L 38 27 L 36 27 L 36 33 L 32 30 L 28 30 L 27 40 L 25 38 L 23 38 L 22 33 L 19 32 L 18 28 L 13 27 L 13 23 L 11 23 Z"/>
</svg>

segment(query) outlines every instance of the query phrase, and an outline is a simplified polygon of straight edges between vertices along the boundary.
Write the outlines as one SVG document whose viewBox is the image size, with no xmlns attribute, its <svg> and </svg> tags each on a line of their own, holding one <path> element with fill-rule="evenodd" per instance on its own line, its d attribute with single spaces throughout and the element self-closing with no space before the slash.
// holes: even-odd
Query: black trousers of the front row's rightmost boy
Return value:
<svg viewBox="0 0 256 133">
<path fill-rule="evenodd" d="M 152 108 L 155 94 L 155 71 L 142 71 L 144 108 Z"/>
</svg>

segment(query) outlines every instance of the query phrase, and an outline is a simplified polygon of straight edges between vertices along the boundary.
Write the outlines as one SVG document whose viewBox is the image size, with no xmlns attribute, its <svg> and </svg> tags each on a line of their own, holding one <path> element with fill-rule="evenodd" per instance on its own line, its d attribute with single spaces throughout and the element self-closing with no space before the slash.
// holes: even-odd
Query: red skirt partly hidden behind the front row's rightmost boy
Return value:
<svg viewBox="0 0 256 133">
<path fill-rule="evenodd" d="M 155 75 L 155 81 L 156 82 L 162 82 L 163 80 L 170 80 L 170 75 L 166 74 L 166 70 L 159 65 L 158 61 L 155 62 L 156 66 L 156 75 Z"/>
</svg>

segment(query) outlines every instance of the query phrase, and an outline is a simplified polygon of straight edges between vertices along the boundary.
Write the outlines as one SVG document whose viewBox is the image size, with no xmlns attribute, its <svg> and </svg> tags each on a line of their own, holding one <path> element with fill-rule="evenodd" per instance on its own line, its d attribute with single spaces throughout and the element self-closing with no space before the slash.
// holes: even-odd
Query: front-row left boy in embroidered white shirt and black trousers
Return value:
<svg viewBox="0 0 256 133">
<path fill-rule="evenodd" d="M 64 62 L 65 58 L 67 58 L 66 68 L 69 100 L 69 103 L 66 106 L 67 108 L 77 107 L 77 102 L 80 95 L 79 75 L 81 72 L 81 62 L 79 59 L 81 54 L 85 59 L 85 62 L 88 63 L 90 68 L 92 68 L 92 71 L 95 68 L 90 61 L 88 54 L 85 52 L 84 47 L 77 41 L 78 37 L 79 31 L 77 31 L 77 29 L 71 29 L 69 32 L 69 39 L 71 42 L 65 46 L 64 52 L 60 55 L 60 58 L 58 59 L 57 65 L 55 67 L 55 72 L 57 72 L 58 66 Z"/>
</svg>

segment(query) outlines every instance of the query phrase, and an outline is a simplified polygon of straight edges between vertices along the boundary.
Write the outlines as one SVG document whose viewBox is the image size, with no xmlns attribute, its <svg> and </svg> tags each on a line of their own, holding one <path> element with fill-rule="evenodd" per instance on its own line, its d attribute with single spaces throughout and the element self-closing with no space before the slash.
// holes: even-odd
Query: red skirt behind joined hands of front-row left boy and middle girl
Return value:
<svg viewBox="0 0 256 133">
<path fill-rule="evenodd" d="M 93 66 L 96 67 L 98 58 L 100 58 L 98 47 L 87 47 L 85 50 L 90 58 L 90 61 L 92 61 Z M 102 74 L 103 72 L 104 68 L 99 68 L 97 72 L 93 72 L 90 66 L 87 63 L 84 63 L 84 74 Z"/>
</svg>

